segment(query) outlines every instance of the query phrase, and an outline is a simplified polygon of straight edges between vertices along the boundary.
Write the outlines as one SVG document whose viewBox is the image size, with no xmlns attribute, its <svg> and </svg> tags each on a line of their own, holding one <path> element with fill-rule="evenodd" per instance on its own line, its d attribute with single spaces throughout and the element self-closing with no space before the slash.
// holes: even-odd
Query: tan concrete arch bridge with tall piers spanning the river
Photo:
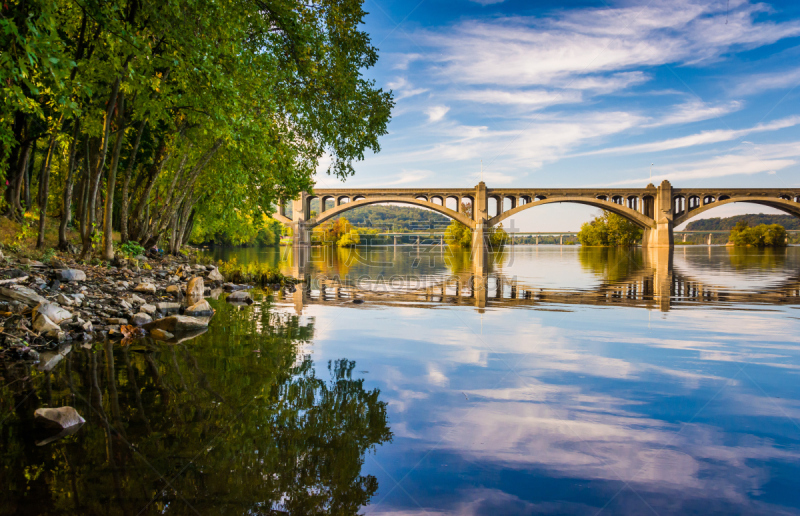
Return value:
<svg viewBox="0 0 800 516">
<path fill-rule="evenodd" d="M 320 213 L 312 216 L 311 202 Z M 472 205 L 472 215 L 461 210 Z M 621 215 L 644 230 L 642 245 L 671 247 L 676 226 L 717 206 L 747 202 L 800 217 L 800 188 L 673 188 L 664 180 L 645 188 L 335 188 L 303 192 L 292 201 L 291 218 L 281 203 L 276 219 L 292 227 L 297 246 L 310 245 L 314 227 L 370 204 L 402 203 L 428 208 L 472 229 L 473 246 L 486 244 L 486 232 L 524 210 L 552 203 L 594 206 Z M 493 209 L 490 209 L 493 208 Z M 494 213 L 490 215 L 490 213 Z"/>
</svg>

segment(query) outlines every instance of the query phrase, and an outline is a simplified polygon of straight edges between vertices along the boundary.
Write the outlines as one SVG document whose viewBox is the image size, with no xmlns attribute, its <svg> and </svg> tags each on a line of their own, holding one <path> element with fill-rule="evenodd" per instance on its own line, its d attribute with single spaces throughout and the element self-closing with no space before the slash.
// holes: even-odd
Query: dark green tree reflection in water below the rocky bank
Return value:
<svg viewBox="0 0 800 516">
<path fill-rule="evenodd" d="M 95 343 L 52 372 L 5 367 L 0 514 L 354 514 L 378 489 L 365 454 L 388 442 L 386 404 L 336 360 L 320 375 L 313 323 L 215 303 L 177 345 Z M 27 377 L 27 378 L 26 378 Z M 13 383 L 12 383 L 13 382 Z M 42 406 L 86 419 L 45 446 Z"/>
</svg>

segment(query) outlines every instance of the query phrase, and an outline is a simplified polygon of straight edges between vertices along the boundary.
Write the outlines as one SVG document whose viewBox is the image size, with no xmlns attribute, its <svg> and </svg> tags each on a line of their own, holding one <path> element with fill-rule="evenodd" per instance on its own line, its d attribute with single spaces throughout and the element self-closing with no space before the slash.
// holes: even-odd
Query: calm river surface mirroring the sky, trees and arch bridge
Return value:
<svg viewBox="0 0 800 516">
<path fill-rule="evenodd" d="M 800 514 L 800 248 L 233 256 L 305 287 L 2 366 L 0 514 Z"/>
</svg>

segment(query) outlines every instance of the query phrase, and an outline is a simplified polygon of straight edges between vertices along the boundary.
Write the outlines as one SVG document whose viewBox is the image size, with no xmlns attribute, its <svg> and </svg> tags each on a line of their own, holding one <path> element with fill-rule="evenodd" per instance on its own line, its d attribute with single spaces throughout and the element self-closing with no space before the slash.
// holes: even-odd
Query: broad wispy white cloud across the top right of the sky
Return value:
<svg viewBox="0 0 800 516">
<path fill-rule="evenodd" d="M 732 3 L 727 24 L 725 2 L 670 0 L 547 19 L 466 21 L 428 33 L 425 40 L 441 54 L 444 76 L 456 83 L 580 87 L 599 74 L 698 63 L 733 47 L 755 48 L 800 34 L 798 21 L 756 23 L 760 6 Z"/>
</svg>

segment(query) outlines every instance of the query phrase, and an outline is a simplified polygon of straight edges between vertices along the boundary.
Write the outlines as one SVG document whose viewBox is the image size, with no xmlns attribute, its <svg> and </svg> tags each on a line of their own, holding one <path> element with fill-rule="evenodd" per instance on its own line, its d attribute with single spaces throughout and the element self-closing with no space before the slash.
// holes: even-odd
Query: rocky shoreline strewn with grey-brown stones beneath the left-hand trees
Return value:
<svg viewBox="0 0 800 516">
<path fill-rule="evenodd" d="M 185 258 L 139 256 L 111 267 L 0 260 L 0 360 L 58 361 L 74 343 L 106 338 L 181 342 L 208 328 L 206 297 L 236 291 L 237 302 L 252 303 L 241 292 L 249 286 Z"/>
</svg>

